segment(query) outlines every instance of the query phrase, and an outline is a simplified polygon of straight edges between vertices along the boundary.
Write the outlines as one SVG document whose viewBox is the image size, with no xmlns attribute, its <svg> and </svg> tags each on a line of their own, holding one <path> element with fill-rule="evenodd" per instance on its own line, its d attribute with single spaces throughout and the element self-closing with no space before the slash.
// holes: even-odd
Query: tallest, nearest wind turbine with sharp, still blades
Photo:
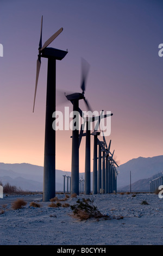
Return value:
<svg viewBox="0 0 163 256">
<path fill-rule="evenodd" d="M 55 112 L 55 93 L 56 93 L 56 60 L 63 59 L 67 51 L 58 50 L 47 47 L 51 42 L 57 38 L 62 32 L 60 28 L 54 33 L 42 46 L 42 20 L 41 18 L 41 33 L 39 42 L 39 55 L 36 65 L 36 83 L 34 93 L 35 107 L 37 83 L 39 80 L 39 72 L 41 66 L 41 57 L 48 59 L 47 70 L 47 95 L 46 95 L 46 120 L 45 120 L 45 154 L 44 154 L 44 169 L 43 169 L 43 201 L 55 197 L 55 130 L 52 129 L 52 114 Z"/>
</svg>

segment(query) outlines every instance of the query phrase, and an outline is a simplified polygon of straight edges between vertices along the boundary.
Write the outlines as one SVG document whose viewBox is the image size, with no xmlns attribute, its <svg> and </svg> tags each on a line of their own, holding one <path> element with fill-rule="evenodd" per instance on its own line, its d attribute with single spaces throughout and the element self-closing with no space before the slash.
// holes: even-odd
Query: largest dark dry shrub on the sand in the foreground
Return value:
<svg viewBox="0 0 163 256">
<path fill-rule="evenodd" d="M 88 199 L 84 199 L 81 201 L 80 199 L 77 200 L 77 204 L 71 205 L 71 209 L 73 210 L 74 217 L 79 218 L 79 220 L 87 220 L 88 218 L 109 218 L 108 215 L 103 215 L 97 209 L 95 205 L 92 204 L 93 201 Z"/>
</svg>

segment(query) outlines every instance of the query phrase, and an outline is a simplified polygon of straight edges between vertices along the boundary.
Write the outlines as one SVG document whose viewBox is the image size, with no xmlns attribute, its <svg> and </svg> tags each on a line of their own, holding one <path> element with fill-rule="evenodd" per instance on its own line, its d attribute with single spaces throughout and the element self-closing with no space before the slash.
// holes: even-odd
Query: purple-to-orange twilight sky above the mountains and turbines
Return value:
<svg viewBox="0 0 163 256">
<path fill-rule="evenodd" d="M 36 60 L 42 44 L 68 53 L 57 60 L 57 90 L 82 92 L 81 58 L 90 64 L 85 97 L 111 111 L 112 152 L 118 164 L 162 155 L 163 3 L 160 0 L 0 0 L 0 162 L 43 166 L 47 59 L 41 59 L 35 111 Z M 58 95 L 58 94 L 57 94 Z M 64 111 L 72 104 L 59 104 Z M 85 111 L 82 100 L 79 107 Z M 71 171 L 72 131 L 56 132 L 56 169 Z M 99 137 L 102 140 L 102 137 Z M 91 170 L 93 167 L 91 137 Z M 85 138 L 79 150 L 84 172 Z"/>
</svg>

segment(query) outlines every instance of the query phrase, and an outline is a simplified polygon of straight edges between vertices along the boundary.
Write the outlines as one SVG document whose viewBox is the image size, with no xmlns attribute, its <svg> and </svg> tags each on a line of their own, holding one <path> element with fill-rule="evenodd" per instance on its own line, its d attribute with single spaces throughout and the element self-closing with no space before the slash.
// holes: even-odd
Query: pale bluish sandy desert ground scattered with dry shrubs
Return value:
<svg viewBox="0 0 163 256">
<path fill-rule="evenodd" d="M 56 194 L 64 198 L 64 194 Z M 11 203 L 22 198 L 27 205 L 13 210 Z M 163 199 L 156 194 L 97 194 L 68 198 L 90 198 L 102 214 L 110 220 L 90 218 L 79 221 L 70 207 L 50 208 L 42 202 L 42 195 L 4 196 L 0 198 L 0 245 L 162 245 Z M 142 205 L 146 200 L 148 205 Z M 30 206 L 39 202 L 40 208 Z M 117 220 L 117 217 L 123 216 Z"/>
</svg>

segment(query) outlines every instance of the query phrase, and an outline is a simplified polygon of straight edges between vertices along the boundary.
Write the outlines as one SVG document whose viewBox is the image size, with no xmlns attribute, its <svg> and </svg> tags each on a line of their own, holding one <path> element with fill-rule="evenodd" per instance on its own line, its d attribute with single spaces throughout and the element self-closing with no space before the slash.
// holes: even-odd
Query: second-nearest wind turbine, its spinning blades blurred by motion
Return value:
<svg viewBox="0 0 163 256">
<path fill-rule="evenodd" d="M 81 110 L 79 110 L 79 100 L 84 100 L 87 109 L 91 110 L 88 101 L 85 99 L 85 84 L 86 78 L 89 71 L 89 64 L 86 60 L 82 59 L 82 83 L 80 88 L 82 93 L 73 93 L 65 95 L 67 100 L 70 100 L 73 104 L 73 113 L 74 115 L 78 112 L 80 115 Z M 72 131 L 72 164 L 71 164 L 71 193 L 79 194 L 79 115 L 76 116 L 76 129 Z"/>
</svg>

